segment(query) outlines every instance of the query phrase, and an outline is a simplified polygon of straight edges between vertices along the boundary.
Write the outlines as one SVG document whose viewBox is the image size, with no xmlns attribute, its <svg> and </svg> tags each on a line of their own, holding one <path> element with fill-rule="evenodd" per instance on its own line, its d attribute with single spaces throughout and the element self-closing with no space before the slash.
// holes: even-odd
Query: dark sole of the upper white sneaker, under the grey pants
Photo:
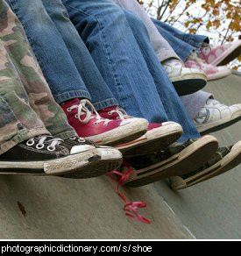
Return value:
<svg viewBox="0 0 241 256">
<path fill-rule="evenodd" d="M 173 82 L 179 96 L 186 96 L 203 89 L 207 81 L 203 79 L 187 79 Z"/>
</svg>

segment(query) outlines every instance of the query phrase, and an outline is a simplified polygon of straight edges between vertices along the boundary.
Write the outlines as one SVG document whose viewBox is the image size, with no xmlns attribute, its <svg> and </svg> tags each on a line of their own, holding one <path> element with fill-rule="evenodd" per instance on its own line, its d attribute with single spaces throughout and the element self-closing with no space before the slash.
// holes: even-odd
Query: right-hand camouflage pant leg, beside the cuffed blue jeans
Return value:
<svg viewBox="0 0 241 256">
<path fill-rule="evenodd" d="M 29 97 L 30 106 L 51 134 L 63 139 L 74 136 L 74 130 L 67 124 L 66 116 L 53 99 L 39 64 L 25 37 L 22 25 L 7 5 L 2 11 L 2 18 L 6 20 L 11 30 L 0 32 L 0 38 L 18 71 Z"/>
</svg>

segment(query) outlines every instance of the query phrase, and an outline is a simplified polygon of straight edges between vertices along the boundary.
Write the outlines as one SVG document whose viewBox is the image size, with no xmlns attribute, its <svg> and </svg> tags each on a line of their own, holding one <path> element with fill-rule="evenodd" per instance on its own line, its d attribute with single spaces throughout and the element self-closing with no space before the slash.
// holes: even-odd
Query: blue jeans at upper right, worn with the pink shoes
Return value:
<svg viewBox="0 0 241 256">
<path fill-rule="evenodd" d="M 188 58 L 190 53 L 199 49 L 204 41 L 209 42 L 209 38 L 205 36 L 181 32 L 174 28 L 174 26 L 161 22 L 158 19 L 152 18 L 152 22 L 156 25 L 162 37 L 167 40 L 175 53 L 183 61 Z"/>
</svg>

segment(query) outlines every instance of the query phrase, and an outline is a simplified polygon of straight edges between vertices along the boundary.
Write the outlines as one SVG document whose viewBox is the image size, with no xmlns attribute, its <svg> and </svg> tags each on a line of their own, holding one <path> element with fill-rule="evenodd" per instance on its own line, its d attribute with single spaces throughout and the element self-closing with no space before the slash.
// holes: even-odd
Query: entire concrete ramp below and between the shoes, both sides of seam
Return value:
<svg viewBox="0 0 241 256">
<path fill-rule="evenodd" d="M 223 103 L 241 103 L 240 80 L 231 75 L 207 89 Z M 241 124 L 215 135 L 230 145 L 241 139 Z M 107 177 L 1 176 L 0 238 L 241 238 L 240 169 L 179 193 L 167 181 L 124 189 L 130 201 L 147 202 L 139 212 L 152 224 L 124 215 Z"/>
</svg>

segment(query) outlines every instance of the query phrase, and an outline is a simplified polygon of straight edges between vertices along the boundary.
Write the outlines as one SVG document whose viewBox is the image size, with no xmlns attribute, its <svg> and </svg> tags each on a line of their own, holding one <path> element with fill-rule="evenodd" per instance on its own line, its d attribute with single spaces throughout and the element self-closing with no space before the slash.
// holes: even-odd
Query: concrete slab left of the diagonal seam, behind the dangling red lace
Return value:
<svg viewBox="0 0 241 256">
<path fill-rule="evenodd" d="M 192 238 L 153 186 L 126 189 L 145 200 L 142 224 L 125 217 L 106 177 L 86 181 L 48 177 L 1 177 L 0 238 Z"/>
</svg>

